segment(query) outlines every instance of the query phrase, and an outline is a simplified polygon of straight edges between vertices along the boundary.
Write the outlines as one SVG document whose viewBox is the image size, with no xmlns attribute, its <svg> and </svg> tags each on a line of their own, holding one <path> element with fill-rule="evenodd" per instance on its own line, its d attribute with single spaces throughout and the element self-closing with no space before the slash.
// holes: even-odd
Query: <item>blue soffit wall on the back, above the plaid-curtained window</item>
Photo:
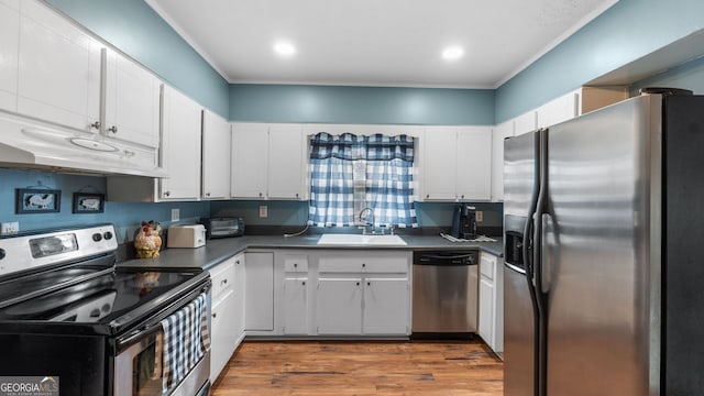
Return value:
<svg viewBox="0 0 704 396">
<path fill-rule="evenodd" d="M 237 84 L 230 120 L 493 125 L 494 90 Z"/>
</svg>

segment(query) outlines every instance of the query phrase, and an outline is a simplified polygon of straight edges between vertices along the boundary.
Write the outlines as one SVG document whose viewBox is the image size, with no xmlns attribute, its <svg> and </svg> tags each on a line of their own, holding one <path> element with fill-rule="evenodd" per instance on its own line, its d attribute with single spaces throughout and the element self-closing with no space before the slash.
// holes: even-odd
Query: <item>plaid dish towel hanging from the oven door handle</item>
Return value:
<svg viewBox="0 0 704 396">
<path fill-rule="evenodd" d="M 188 375 L 210 346 L 206 294 L 162 320 L 162 327 L 164 389 L 170 389 Z"/>
</svg>

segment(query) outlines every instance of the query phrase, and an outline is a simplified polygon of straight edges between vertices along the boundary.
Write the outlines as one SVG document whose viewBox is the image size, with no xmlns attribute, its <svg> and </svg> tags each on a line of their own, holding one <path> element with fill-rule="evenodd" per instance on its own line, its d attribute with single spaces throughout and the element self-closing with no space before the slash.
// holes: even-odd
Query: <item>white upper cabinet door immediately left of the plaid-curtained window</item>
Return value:
<svg viewBox="0 0 704 396">
<path fill-rule="evenodd" d="M 301 125 L 268 128 L 268 197 L 304 199 L 307 160 Z"/>
</svg>

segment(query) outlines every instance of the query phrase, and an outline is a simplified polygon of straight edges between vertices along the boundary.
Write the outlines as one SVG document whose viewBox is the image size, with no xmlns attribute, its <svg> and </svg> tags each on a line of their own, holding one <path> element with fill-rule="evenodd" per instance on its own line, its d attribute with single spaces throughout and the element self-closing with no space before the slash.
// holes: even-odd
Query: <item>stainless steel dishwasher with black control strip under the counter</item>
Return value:
<svg viewBox="0 0 704 396">
<path fill-rule="evenodd" d="M 479 258 L 476 250 L 414 252 L 415 337 L 476 332 Z"/>
</svg>

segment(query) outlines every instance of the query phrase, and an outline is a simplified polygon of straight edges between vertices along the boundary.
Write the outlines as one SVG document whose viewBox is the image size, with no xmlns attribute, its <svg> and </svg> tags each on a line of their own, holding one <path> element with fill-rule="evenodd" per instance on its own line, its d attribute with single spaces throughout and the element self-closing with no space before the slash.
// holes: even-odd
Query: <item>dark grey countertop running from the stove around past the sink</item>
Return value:
<svg viewBox="0 0 704 396">
<path fill-rule="evenodd" d="M 440 235 L 416 237 L 400 235 L 406 246 L 319 246 L 319 234 L 289 237 L 283 235 L 245 235 L 208 240 L 205 246 L 196 249 L 165 249 L 155 258 L 134 258 L 118 263 L 119 266 L 155 266 L 155 267 L 202 267 L 208 270 L 245 249 L 334 249 L 334 250 L 431 250 L 431 249 L 480 249 L 487 253 L 503 256 L 503 239 L 492 237 L 497 242 L 450 242 Z"/>
</svg>

